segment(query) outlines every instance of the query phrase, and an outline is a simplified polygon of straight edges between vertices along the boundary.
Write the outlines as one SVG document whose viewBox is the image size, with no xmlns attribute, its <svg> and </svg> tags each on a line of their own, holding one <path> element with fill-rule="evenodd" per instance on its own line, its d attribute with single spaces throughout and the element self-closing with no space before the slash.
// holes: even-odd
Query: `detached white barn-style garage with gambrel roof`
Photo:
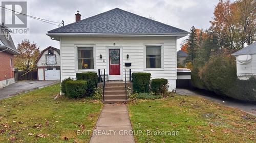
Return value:
<svg viewBox="0 0 256 143">
<path fill-rule="evenodd" d="M 49 46 L 42 50 L 36 64 L 38 80 L 60 79 L 59 49 Z"/>
</svg>

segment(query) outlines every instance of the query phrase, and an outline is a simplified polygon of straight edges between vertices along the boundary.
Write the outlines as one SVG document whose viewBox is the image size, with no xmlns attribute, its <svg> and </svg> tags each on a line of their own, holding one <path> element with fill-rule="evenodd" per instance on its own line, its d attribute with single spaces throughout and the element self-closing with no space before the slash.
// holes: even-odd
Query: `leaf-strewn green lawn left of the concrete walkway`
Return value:
<svg viewBox="0 0 256 143">
<path fill-rule="evenodd" d="M 89 142 L 102 104 L 54 97 L 60 85 L 0 100 L 0 142 Z M 85 132 L 84 132 L 85 133 Z"/>
</svg>

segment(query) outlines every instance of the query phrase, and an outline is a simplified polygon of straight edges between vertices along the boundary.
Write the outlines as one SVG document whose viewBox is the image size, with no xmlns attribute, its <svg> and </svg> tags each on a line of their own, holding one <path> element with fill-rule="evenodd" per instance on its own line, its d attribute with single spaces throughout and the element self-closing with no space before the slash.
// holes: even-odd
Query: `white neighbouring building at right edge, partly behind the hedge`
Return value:
<svg viewBox="0 0 256 143">
<path fill-rule="evenodd" d="M 247 80 L 256 76 L 256 42 L 233 53 L 237 59 L 237 76 L 239 79 Z"/>
</svg>

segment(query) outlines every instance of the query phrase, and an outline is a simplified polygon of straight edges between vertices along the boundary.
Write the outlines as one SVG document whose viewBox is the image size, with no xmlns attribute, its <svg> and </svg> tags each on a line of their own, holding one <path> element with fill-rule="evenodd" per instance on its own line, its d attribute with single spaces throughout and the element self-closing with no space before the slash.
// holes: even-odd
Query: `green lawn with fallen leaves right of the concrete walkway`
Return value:
<svg viewBox="0 0 256 143">
<path fill-rule="evenodd" d="M 137 142 L 255 142 L 256 117 L 195 96 L 129 103 Z M 146 131 L 167 135 L 147 135 Z M 166 132 L 167 131 L 167 132 Z M 168 132 L 170 131 L 170 132 Z M 172 132 L 174 131 L 174 132 Z M 168 133 L 176 133 L 172 136 Z"/>
</svg>

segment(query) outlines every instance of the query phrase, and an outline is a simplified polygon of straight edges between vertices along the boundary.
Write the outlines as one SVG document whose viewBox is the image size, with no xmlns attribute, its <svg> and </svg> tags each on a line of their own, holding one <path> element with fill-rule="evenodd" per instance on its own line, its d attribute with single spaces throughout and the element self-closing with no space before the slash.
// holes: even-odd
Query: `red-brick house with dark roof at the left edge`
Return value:
<svg viewBox="0 0 256 143">
<path fill-rule="evenodd" d="M 0 27 L 0 88 L 14 83 L 14 55 L 18 51 L 12 41 L 10 30 L 5 25 Z"/>
</svg>

